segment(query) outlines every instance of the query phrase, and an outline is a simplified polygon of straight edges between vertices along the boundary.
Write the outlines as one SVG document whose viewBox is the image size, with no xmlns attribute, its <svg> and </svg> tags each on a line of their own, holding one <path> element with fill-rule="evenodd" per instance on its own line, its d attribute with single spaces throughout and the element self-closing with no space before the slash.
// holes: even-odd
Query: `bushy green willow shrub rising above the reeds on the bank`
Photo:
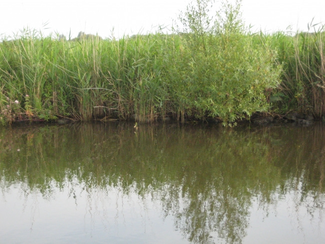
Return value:
<svg viewBox="0 0 325 244">
<path fill-rule="evenodd" d="M 172 100 L 182 114 L 218 116 L 224 122 L 266 111 L 265 92 L 279 84 L 280 66 L 267 43 L 253 47 L 241 20 L 240 2 L 223 3 L 210 18 L 208 0 L 180 16 L 184 26 L 166 69 Z M 176 37 L 175 37 L 176 38 Z"/>
</svg>

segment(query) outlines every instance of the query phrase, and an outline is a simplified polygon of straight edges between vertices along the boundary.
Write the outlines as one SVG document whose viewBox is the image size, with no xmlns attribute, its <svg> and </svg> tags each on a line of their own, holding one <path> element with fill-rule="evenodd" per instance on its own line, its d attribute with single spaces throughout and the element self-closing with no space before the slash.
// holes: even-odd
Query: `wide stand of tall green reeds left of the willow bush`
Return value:
<svg viewBox="0 0 325 244">
<path fill-rule="evenodd" d="M 0 47 L 2 101 L 17 99 L 24 108 L 28 94 L 35 114 L 47 119 L 51 115 L 128 118 L 136 113 L 153 120 L 165 106 L 158 79 L 160 39 L 157 34 L 66 42 L 26 31 Z"/>
</svg>

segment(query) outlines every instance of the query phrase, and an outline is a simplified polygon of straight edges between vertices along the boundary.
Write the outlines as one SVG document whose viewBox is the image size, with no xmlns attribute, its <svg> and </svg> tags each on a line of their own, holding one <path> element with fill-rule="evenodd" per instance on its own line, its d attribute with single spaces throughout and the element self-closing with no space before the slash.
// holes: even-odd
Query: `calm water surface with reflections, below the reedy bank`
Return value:
<svg viewBox="0 0 325 244">
<path fill-rule="evenodd" d="M 325 243 L 325 127 L 0 128 L 1 243 Z"/>
</svg>

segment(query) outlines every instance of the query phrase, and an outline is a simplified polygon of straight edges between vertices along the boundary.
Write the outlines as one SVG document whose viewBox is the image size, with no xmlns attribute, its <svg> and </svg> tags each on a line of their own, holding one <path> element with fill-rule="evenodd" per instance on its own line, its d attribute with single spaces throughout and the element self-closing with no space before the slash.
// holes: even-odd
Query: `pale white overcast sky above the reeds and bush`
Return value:
<svg viewBox="0 0 325 244">
<path fill-rule="evenodd" d="M 0 0 L 0 35 L 11 36 L 24 27 L 76 37 L 80 31 L 103 38 L 146 33 L 157 25 L 171 25 L 190 0 Z M 216 2 L 216 5 L 218 2 Z M 254 30 L 285 31 L 292 25 L 325 22 L 325 0 L 242 0 L 243 19 Z M 49 23 L 43 29 L 44 23 Z M 323 23 L 325 24 L 325 23 Z"/>
</svg>

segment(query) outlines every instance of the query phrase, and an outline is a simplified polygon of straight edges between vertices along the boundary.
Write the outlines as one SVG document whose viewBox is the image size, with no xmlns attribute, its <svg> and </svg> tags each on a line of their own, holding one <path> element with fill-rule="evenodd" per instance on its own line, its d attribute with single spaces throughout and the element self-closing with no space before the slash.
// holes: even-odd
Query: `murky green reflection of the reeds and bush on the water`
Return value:
<svg viewBox="0 0 325 244">
<path fill-rule="evenodd" d="M 324 129 L 166 124 L 136 130 L 127 123 L 2 128 L 0 183 L 3 196 L 14 194 L 14 187 L 25 199 L 34 194 L 51 200 L 68 190 L 76 205 L 87 198 L 89 212 L 101 202 L 102 209 L 115 202 L 123 211 L 125 201 L 139 199 L 142 214 L 153 207 L 163 219 L 172 216 L 185 240 L 242 243 L 252 209 L 267 217 L 283 199 L 290 198 L 293 211 L 305 209 L 310 221 L 322 221 Z M 105 218 L 105 210 L 100 215 Z"/>
</svg>

